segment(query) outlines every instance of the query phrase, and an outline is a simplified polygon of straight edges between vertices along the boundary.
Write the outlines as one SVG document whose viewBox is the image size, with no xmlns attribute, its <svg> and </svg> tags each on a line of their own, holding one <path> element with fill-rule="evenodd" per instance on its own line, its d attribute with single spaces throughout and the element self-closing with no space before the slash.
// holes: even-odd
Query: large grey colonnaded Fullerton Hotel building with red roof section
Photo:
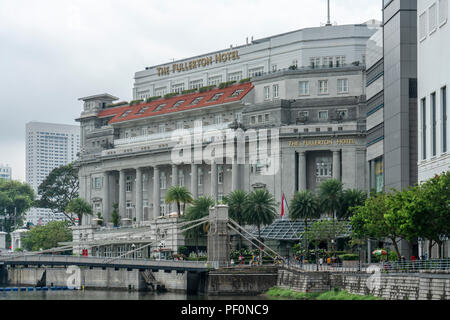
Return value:
<svg viewBox="0 0 450 320">
<path fill-rule="evenodd" d="M 177 211 L 173 185 L 216 200 L 267 188 L 280 204 L 330 178 L 365 190 L 365 52 L 378 27 L 303 29 L 146 68 L 133 103 L 81 98 L 80 195 L 106 222 L 118 204 L 123 222 L 151 228 Z"/>
</svg>

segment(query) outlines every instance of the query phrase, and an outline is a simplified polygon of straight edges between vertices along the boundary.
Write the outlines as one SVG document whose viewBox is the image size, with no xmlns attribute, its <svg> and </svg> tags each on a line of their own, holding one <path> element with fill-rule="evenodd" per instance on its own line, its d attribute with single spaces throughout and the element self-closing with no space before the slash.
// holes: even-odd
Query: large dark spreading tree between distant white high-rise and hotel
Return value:
<svg viewBox="0 0 450 320">
<path fill-rule="evenodd" d="M 78 170 L 73 164 L 56 168 L 39 186 L 40 199 L 36 201 L 36 207 L 51 209 L 55 213 L 62 212 L 72 224 L 75 224 L 73 217 L 65 210 L 71 200 L 78 198 L 78 190 Z"/>
</svg>

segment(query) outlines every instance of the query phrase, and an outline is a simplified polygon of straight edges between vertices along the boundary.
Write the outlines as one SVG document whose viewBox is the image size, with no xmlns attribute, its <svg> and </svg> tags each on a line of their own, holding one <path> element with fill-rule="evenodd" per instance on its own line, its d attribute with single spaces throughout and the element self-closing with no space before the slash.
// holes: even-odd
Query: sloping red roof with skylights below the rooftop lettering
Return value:
<svg viewBox="0 0 450 320">
<path fill-rule="evenodd" d="M 233 93 L 236 92 L 236 90 L 240 90 L 240 89 L 242 89 L 243 92 L 236 97 L 232 97 Z M 122 106 L 122 107 L 106 109 L 106 110 L 101 111 L 98 116 L 99 116 L 99 118 L 113 116 L 113 118 L 109 122 L 110 124 L 124 122 L 124 121 L 130 121 L 130 120 L 136 120 L 136 119 L 141 119 L 141 118 L 148 118 L 148 117 L 169 114 L 169 113 L 174 113 L 174 112 L 179 112 L 179 111 L 185 111 L 185 110 L 191 110 L 191 109 L 196 109 L 196 108 L 209 107 L 209 106 L 218 105 L 218 104 L 222 104 L 222 103 L 239 101 L 239 100 L 242 100 L 252 89 L 253 89 L 253 85 L 251 83 L 243 83 L 243 84 L 234 85 L 234 86 L 224 88 L 224 89 L 213 89 L 208 92 L 202 92 L 202 93 L 196 92 L 196 93 L 172 97 L 169 99 L 160 99 L 160 100 L 152 101 L 149 103 L 142 103 L 142 104 L 134 105 L 134 106 Z M 218 93 L 223 93 L 223 95 L 216 101 L 210 101 Z M 199 97 L 203 97 L 203 99 L 200 100 L 200 102 L 198 102 L 197 104 L 192 105 L 192 102 L 194 102 L 194 100 Z M 180 106 L 174 108 L 173 106 L 181 100 L 184 100 L 184 102 Z M 160 111 L 155 111 L 156 108 L 158 108 L 158 106 L 160 106 L 162 104 L 166 104 L 166 105 Z M 137 114 L 143 107 L 149 107 L 149 108 L 142 114 Z M 131 112 L 126 117 L 121 118 L 121 116 L 127 110 L 131 110 Z"/>
</svg>

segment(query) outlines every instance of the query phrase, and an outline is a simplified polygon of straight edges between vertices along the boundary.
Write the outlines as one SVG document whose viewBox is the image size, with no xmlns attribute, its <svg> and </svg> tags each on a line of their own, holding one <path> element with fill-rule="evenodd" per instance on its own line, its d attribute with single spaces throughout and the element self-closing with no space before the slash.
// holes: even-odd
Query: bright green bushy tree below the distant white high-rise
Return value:
<svg viewBox="0 0 450 320">
<path fill-rule="evenodd" d="M 57 248 L 60 242 L 72 241 L 69 221 L 53 221 L 45 226 L 32 228 L 24 234 L 22 244 L 28 251 Z"/>
</svg>

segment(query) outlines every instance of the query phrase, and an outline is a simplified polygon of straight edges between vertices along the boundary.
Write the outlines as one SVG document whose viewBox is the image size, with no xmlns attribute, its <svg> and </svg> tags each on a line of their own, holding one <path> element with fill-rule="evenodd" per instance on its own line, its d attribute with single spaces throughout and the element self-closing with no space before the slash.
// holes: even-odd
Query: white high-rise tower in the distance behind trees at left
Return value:
<svg viewBox="0 0 450 320">
<path fill-rule="evenodd" d="M 30 122 L 26 125 L 26 182 L 36 192 L 50 172 L 72 163 L 80 151 L 80 127 L 76 125 Z M 64 220 L 62 213 L 32 208 L 27 222 L 34 225 Z"/>
</svg>

